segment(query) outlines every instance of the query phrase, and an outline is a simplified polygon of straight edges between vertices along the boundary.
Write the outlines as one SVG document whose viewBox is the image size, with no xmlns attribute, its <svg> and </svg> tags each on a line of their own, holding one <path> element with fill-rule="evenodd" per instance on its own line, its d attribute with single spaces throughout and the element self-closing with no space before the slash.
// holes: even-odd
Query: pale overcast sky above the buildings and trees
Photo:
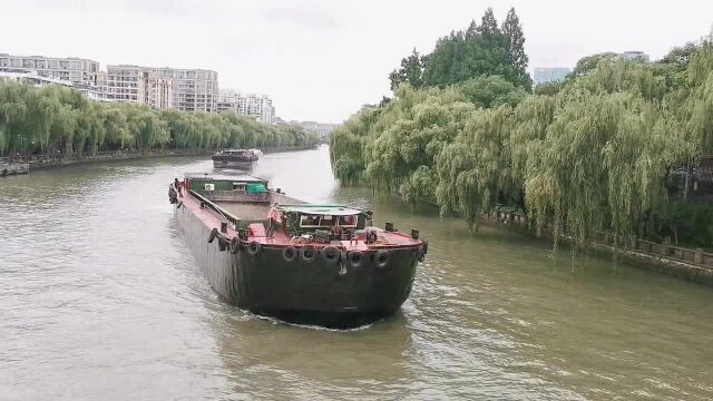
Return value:
<svg viewBox="0 0 713 401">
<path fill-rule="evenodd" d="M 389 95 L 413 47 L 515 7 L 534 67 L 600 51 L 653 59 L 710 32 L 713 1 L 0 0 L 0 52 L 204 68 L 221 88 L 266 94 L 277 116 L 340 123 Z"/>
</svg>

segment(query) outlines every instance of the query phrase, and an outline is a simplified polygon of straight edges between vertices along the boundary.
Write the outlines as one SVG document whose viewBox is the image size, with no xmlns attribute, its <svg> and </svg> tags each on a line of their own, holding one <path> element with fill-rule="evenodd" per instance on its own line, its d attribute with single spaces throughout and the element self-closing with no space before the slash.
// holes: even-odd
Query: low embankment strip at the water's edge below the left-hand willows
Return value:
<svg viewBox="0 0 713 401">
<path fill-rule="evenodd" d="M 316 145 L 294 146 L 294 147 L 273 146 L 273 147 L 262 148 L 261 150 L 265 154 L 270 154 L 270 153 L 280 153 L 280 151 L 307 150 L 307 149 L 315 149 L 315 148 L 316 148 Z M 143 158 L 155 158 L 155 157 L 211 156 L 218 149 L 201 149 L 201 150 L 155 149 L 148 153 L 116 150 L 116 151 L 97 151 L 94 155 L 80 153 L 80 154 L 72 154 L 72 155 L 20 156 L 19 158 L 14 158 L 14 159 L 10 159 L 10 158 L 0 159 L 0 176 L 13 175 L 13 174 L 27 174 L 30 170 L 60 168 L 65 166 L 85 164 L 85 163 L 118 162 L 118 160 L 130 160 L 130 159 L 143 159 Z M 2 174 L 2 172 L 6 172 L 6 174 Z"/>
</svg>

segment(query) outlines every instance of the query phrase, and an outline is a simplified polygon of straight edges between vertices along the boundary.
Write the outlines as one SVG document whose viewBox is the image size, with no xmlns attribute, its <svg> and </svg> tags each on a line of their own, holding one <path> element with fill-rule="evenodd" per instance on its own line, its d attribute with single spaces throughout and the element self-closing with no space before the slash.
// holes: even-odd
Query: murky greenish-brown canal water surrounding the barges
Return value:
<svg viewBox="0 0 713 401">
<path fill-rule="evenodd" d="M 167 186 L 199 158 L 0 179 L 0 399 L 713 398 L 713 291 L 339 188 L 329 151 L 266 155 L 287 195 L 430 242 L 400 313 L 339 332 L 225 304 Z M 577 266 L 570 273 L 572 263 Z"/>
</svg>

